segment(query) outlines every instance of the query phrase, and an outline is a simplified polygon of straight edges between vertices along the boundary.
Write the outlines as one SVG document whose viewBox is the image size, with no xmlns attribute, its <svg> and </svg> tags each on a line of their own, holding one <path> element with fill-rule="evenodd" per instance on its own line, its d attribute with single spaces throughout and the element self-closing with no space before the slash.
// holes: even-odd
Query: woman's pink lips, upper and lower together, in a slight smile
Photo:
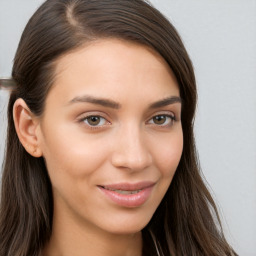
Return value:
<svg viewBox="0 0 256 256">
<path fill-rule="evenodd" d="M 148 200 L 154 185 L 155 182 L 143 181 L 133 184 L 118 183 L 99 185 L 98 188 L 115 204 L 127 208 L 134 208 L 143 205 Z"/>
</svg>

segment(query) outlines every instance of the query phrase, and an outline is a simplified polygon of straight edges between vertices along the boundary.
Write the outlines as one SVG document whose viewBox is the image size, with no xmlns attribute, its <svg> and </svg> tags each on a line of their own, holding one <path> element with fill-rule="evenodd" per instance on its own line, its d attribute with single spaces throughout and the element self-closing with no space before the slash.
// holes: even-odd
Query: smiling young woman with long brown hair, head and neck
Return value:
<svg viewBox="0 0 256 256">
<path fill-rule="evenodd" d="M 236 255 L 200 176 L 196 84 L 141 0 L 48 0 L 15 56 L 1 255 Z"/>
</svg>

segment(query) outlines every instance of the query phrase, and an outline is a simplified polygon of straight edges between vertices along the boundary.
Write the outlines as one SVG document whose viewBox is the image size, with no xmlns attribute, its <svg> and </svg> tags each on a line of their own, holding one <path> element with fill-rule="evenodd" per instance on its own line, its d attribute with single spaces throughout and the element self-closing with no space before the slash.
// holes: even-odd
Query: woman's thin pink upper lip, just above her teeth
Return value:
<svg viewBox="0 0 256 256">
<path fill-rule="evenodd" d="M 137 183 L 115 183 L 115 184 L 107 184 L 100 185 L 99 187 L 103 187 L 105 189 L 111 190 L 125 190 L 125 191 L 134 191 L 134 190 L 142 190 L 148 187 L 152 187 L 155 185 L 155 182 L 152 181 L 142 181 Z"/>
</svg>

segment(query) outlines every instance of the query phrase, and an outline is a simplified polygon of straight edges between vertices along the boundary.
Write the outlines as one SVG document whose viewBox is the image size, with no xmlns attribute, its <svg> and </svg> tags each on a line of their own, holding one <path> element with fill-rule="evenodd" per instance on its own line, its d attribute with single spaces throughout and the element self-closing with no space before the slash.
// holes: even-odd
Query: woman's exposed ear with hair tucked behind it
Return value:
<svg viewBox="0 0 256 256">
<path fill-rule="evenodd" d="M 13 119 L 19 140 L 26 151 L 34 156 L 41 157 L 37 131 L 40 128 L 39 119 L 33 115 L 23 99 L 17 99 L 13 106 Z"/>
</svg>

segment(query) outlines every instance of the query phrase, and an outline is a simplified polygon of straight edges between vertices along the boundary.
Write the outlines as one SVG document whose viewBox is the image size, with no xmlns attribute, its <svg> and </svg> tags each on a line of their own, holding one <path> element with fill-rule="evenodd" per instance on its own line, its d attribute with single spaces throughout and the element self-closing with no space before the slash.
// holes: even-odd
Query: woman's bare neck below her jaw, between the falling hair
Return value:
<svg viewBox="0 0 256 256">
<path fill-rule="evenodd" d="M 142 235 L 112 234 L 90 223 L 53 218 L 52 235 L 42 256 L 141 256 Z"/>
</svg>

